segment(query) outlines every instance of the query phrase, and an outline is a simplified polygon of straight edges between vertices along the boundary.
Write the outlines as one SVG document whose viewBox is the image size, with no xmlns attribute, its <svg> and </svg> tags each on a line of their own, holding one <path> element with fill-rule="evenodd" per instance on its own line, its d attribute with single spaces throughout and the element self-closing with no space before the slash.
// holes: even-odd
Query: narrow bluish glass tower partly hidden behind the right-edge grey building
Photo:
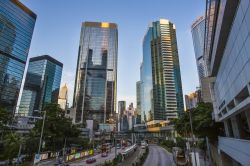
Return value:
<svg viewBox="0 0 250 166">
<path fill-rule="evenodd" d="M 205 61 L 204 61 L 204 37 L 205 37 L 205 17 L 199 17 L 192 25 L 192 37 L 195 52 L 195 59 L 198 69 L 199 80 L 204 78 L 205 73 Z"/>
</svg>

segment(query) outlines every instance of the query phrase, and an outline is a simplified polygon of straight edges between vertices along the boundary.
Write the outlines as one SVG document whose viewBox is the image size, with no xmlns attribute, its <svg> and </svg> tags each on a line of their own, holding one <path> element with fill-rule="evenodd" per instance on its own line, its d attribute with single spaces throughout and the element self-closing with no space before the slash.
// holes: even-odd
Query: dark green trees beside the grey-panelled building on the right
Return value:
<svg viewBox="0 0 250 166">
<path fill-rule="evenodd" d="M 175 130 L 184 137 L 190 137 L 190 119 L 191 113 L 193 131 L 198 137 L 208 137 L 211 142 L 217 141 L 218 135 L 223 133 L 223 124 L 215 123 L 212 120 L 213 106 L 211 103 L 199 103 L 197 108 L 184 112 L 178 119 L 173 121 Z"/>
</svg>

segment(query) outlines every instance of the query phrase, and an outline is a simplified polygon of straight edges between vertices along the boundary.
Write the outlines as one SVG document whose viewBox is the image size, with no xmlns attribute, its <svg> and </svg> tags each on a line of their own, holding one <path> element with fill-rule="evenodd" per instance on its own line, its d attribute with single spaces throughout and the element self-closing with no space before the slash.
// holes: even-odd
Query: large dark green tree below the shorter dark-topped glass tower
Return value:
<svg viewBox="0 0 250 166">
<path fill-rule="evenodd" d="M 45 142 L 44 150 L 61 150 L 64 147 L 65 139 L 67 139 L 68 145 L 74 143 L 74 141 L 77 140 L 76 138 L 79 136 L 80 131 L 72 124 L 71 119 L 64 116 L 64 111 L 61 110 L 59 105 L 47 104 L 44 110 L 46 111 L 43 133 L 43 141 Z M 36 122 L 35 127 L 30 132 L 28 141 L 38 143 L 42 123 L 43 119 Z"/>
</svg>

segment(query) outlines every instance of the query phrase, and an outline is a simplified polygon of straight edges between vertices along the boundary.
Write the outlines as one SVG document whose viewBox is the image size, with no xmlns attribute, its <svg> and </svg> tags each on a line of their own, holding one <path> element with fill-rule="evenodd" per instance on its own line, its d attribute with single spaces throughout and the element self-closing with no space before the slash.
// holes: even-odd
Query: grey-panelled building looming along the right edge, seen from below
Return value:
<svg viewBox="0 0 250 166">
<path fill-rule="evenodd" d="M 222 165 L 250 163 L 250 1 L 207 0 L 205 60 L 214 115 L 224 123 L 219 137 Z"/>
</svg>

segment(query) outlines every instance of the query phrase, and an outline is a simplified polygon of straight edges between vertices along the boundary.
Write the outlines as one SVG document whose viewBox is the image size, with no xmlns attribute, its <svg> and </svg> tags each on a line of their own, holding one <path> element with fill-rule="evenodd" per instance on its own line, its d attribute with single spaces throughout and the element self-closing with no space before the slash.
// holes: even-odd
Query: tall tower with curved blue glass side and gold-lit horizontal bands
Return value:
<svg viewBox="0 0 250 166">
<path fill-rule="evenodd" d="M 143 40 L 141 64 L 143 121 L 170 120 L 183 112 L 183 96 L 175 25 L 152 22 Z"/>
</svg>

